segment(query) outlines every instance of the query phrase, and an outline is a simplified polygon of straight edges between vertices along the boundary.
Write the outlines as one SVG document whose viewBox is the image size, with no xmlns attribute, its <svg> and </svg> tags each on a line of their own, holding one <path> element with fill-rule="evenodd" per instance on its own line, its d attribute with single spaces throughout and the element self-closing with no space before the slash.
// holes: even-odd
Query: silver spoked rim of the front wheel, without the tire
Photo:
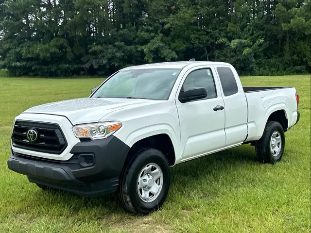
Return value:
<svg viewBox="0 0 311 233">
<path fill-rule="evenodd" d="M 160 194 L 163 185 L 163 172 L 157 164 L 146 165 L 139 173 L 137 192 L 144 202 L 154 201 Z"/>
</svg>

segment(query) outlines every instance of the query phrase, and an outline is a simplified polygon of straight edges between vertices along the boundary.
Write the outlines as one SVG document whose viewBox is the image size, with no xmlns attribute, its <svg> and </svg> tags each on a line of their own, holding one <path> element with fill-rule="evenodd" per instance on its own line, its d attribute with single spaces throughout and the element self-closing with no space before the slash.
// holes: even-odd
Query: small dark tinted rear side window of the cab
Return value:
<svg viewBox="0 0 311 233">
<path fill-rule="evenodd" d="M 238 85 L 235 81 L 234 74 L 229 67 L 217 67 L 220 82 L 222 83 L 225 96 L 231 96 L 238 93 Z"/>
</svg>

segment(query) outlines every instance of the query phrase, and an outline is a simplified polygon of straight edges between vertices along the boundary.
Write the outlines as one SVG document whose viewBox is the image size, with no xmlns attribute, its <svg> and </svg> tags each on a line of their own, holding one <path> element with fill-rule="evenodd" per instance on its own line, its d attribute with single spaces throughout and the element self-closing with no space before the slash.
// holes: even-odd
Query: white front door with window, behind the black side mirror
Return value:
<svg viewBox="0 0 311 233">
<path fill-rule="evenodd" d="M 182 160 L 225 146 L 225 111 L 215 108 L 224 106 L 224 100 L 214 73 L 213 67 L 192 68 L 186 72 L 178 88 L 175 101 L 180 122 Z M 207 98 L 182 103 L 179 95 L 189 87 L 205 88 Z"/>
</svg>

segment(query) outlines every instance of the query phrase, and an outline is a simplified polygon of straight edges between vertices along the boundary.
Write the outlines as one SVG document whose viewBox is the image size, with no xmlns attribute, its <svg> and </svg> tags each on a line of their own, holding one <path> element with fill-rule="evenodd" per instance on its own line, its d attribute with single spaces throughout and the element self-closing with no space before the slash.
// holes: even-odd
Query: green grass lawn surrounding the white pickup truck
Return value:
<svg viewBox="0 0 311 233">
<path fill-rule="evenodd" d="M 310 75 L 242 77 L 245 86 L 295 86 L 299 93 L 301 118 L 285 133 L 281 162 L 260 164 L 254 148 L 242 145 L 174 166 L 167 200 L 149 216 L 125 213 L 115 194 L 43 191 L 7 168 L 15 116 L 86 97 L 103 79 L 0 76 L 0 233 L 310 232 Z"/>
</svg>

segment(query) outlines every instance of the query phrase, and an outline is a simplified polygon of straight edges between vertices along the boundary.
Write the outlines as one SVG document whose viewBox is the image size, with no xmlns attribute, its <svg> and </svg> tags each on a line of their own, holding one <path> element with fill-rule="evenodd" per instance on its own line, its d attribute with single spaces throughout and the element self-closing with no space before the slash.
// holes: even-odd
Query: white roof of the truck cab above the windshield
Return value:
<svg viewBox="0 0 311 233">
<path fill-rule="evenodd" d="M 152 64 L 145 64 L 140 66 L 133 66 L 133 67 L 126 67 L 122 70 L 129 70 L 129 69 L 152 69 L 152 68 L 171 68 L 171 69 L 182 69 L 184 67 L 198 67 L 198 66 L 215 66 L 215 65 L 222 65 L 222 66 L 231 66 L 229 63 L 225 62 L 200 62 L 200 61 L 191 61 L 191 62 L 162 62 L 162 63 L 152 63 Z"/>
</svg>

